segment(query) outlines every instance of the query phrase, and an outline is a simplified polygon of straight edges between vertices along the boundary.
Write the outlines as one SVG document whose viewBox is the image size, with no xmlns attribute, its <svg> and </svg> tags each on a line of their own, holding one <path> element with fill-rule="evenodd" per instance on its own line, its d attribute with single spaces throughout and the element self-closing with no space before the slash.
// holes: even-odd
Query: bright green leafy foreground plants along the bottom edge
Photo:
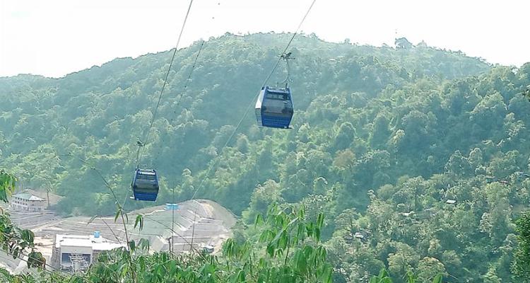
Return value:
<svg viewBox="0 0 530 283">
<path fill-rule="evenodd" d="M 0 173 L 1 200 L 12 192 L 16 178 Z M 5 180 L 5 182 L 4 182 Z M 266 217 L 257 216 L 251 229 L 257 241 L 240 243 L 228 239 L 220 257 L 206 253 L 172 255 L 148 253 L 149 246 L 134 241 L 127 248 L 102 253 L 90 269 L 71 275 L 51 269 L 33 245 L 33 233 L 17 229 L 1 212 L 0 241 L 13 258 L 20 258 L 37 272 L 10 275 L 0 269 L 4 282 L 331 282 L 332 267 L 326 260 L 326 248 L 320 243 L 324 214 L 316 222 L 307 221 L 304 208 L 271 205 Z M 25 257 L 25 250 L 31 252 Z M 409 274 L 414 282 L 414 275 Z M 382 271 L 373 282 L 389 277 Z M 435 282 L 441 282 L 438 275 Z"/>
</svg>

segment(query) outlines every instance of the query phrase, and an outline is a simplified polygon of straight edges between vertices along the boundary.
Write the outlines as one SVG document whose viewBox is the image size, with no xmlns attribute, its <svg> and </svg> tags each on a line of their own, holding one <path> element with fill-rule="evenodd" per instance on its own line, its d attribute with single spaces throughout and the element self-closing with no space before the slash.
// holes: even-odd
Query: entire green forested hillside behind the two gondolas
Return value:
<svg viewBox="0 0 530 283">
<path fill-rule="evenodd" d="M 530 198 L 530 105 L 521 95 L 530 64 L 300 36 L 293 129 L 261 129 L 254 98 L 288 36 L 211 38 L 189 81 L 201 42 L 177 52 L 143 154 L 162 176 L 157 203 L 173 189 L 177 200 L 197 191 L 242 216 L 236 239 L 258 237 L 245 225 L 273 202 L 305 204 L 313 220 L 324 212 L 335 282 L 366 282 L 383 267 L 396 282 L 408 270 L 420 282 L 439 272 L 449 282 L 510 282 L 512 219 Z M 0 78 L 0 167 L 63 195 L 63 214 L 112 214 L 91 167 L 126 197 L 169 59 Z M 270 83 L 284 76 L 281 66 Z"/>
</svg>

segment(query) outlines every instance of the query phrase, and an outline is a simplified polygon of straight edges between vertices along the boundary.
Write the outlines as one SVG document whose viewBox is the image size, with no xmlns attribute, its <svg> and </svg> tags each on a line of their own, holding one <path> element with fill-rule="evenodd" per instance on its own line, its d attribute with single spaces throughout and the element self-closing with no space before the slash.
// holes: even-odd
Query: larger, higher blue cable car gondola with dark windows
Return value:
<svg viewBox="0 0 530 283">
<path fill-rule="evenodd" d="M 293 112 L 289 88 L 261 88 L 256 102 L 258 126 L 288 129 Z"/>
</svg>

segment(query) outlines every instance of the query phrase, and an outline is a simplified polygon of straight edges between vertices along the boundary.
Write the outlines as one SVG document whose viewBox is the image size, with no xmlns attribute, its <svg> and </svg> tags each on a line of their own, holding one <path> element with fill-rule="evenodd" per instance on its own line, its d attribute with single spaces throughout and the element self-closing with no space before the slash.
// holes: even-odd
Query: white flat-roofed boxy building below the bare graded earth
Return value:
<svg viewBox="0 0 530 283">
<path fill-rule="evenodd" d="M 98 232 L 90 236 L 56 234 L 51 265 L 73 272 L 86 270 L 102 251 L 120 247 L 125 245 L 109 241 Z"/>
</svg>

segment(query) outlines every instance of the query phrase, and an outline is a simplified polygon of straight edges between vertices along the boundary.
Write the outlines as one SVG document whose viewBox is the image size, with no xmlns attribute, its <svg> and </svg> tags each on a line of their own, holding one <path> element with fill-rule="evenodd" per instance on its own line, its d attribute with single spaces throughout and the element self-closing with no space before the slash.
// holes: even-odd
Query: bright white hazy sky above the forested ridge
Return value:
<svg viewBox="0 0 530 283">
<path fill-rule="evenodd" d="M 312 0 L 195 0 L 181 47 L 223 33 L 293 31 Z M 64 76 L 116 57 L 175 46 L 188 0 L 0 0 L 0 76 Z M 461 50 L 488 62 L 530 62 L 521 0 L 317 0 L 302 30 L 328 41 Z"/>
</svg>

